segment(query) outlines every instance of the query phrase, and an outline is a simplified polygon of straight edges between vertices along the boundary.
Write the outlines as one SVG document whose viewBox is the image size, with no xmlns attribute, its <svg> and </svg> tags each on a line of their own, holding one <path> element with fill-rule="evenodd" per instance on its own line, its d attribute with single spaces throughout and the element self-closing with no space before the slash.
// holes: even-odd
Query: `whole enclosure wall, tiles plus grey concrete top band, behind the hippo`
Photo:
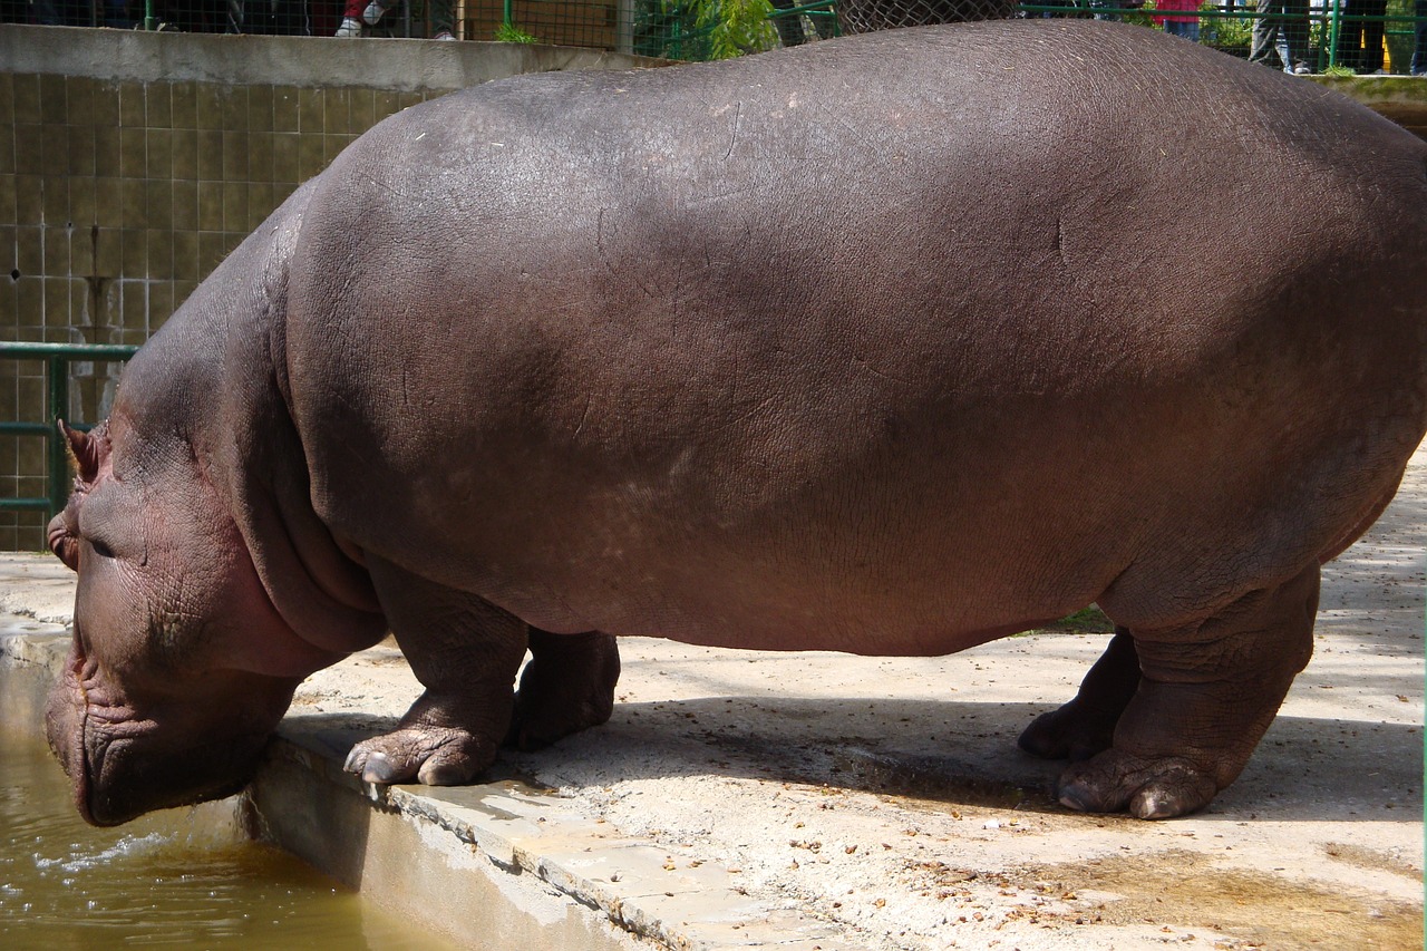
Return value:
<svg viewBox="0 0 1427 951">
<path fill-rule="evenodd" d="M 487 80 L 641 60 L 425 40 L 0 26 L 0 340 L 141 344 L 307 178 L 387 116 Z M 118 367 L 71 364 L 66 418 Z M 0 361 L 0 420 L 41 420 L 43 367 Z M 43 443 L 0 438 L 0 495 L 44 494 Z M 0 550 L 44 515 L 0 511 Z"/>
</svg>

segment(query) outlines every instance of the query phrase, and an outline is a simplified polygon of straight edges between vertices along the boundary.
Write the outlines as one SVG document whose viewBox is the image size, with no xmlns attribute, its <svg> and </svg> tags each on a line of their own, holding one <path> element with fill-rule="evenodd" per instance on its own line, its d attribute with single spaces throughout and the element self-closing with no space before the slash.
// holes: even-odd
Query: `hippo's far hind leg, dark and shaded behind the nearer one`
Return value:
<svg viewBox="0 0 1427 951">
<path fill-rule="evenodd" d="M 1075 700 L 1037 717 L 1020 734 L 1020 748 L 1046 760 L 1089 760 L 1109 750 L 1114 725 L 1140 685 L 1134 640 L 1123 627 L 1080 684 Z"/>
</svg>

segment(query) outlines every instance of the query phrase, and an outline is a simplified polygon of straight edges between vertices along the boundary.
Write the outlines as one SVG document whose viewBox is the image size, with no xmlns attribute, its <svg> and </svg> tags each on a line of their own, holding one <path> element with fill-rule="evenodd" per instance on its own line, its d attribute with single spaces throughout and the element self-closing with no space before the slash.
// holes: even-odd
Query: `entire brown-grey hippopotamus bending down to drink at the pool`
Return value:
<svg viewBox="0 0 1427 951">
<path fill-rule="evenodd" d="M 1122 24 L 407 109 L 66 428 L 50 743 L 91 822 L 218 797 L 390 631 L 424 693 L 345 768 L 461 784 L 605 721 L 615 635 L 942 655 L 1093 603 L 1020 745 L 1192 812 L 1427 430 L 1424 260 L 1427 144 Z"/>
</svg>

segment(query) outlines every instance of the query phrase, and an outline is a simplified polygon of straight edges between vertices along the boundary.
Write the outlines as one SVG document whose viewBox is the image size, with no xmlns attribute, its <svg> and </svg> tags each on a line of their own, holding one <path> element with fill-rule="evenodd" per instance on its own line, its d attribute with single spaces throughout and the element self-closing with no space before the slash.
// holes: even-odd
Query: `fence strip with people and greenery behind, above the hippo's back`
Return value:
<svg viewBox="0 0 1427 951">
<path fill-rule="evenodd" d="M 1096 17 L 1249 56 L 1256 24 L 1287 69 L 1427 74 L 1427 0 L 0 0 L 0 21 L 57 26 L 551 43 L 672 60 L 839 33 L 1002 17 Z M 1270 47 L 1283 46 L 1270 40 Z M 1277 61 L 1279 50 L 1267 59 Z"/>
</svg>

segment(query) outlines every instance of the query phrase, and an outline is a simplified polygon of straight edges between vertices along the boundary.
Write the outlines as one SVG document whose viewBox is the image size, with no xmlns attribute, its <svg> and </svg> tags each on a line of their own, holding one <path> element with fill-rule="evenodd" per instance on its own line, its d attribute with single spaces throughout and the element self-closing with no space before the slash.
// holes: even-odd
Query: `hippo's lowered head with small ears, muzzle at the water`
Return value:
<svg viewBox="0 0 1427 951">
<path fill-rule="evenodd" d="M 283 621 L 186 440 L 140 438 L 117 411 L 90 434 L 60 427 L 77 478 L 49 541 L 78 588 L 46 731 L 76 805 L 116 825 L 234 792 L 335 657 Z"/>
</svg>

